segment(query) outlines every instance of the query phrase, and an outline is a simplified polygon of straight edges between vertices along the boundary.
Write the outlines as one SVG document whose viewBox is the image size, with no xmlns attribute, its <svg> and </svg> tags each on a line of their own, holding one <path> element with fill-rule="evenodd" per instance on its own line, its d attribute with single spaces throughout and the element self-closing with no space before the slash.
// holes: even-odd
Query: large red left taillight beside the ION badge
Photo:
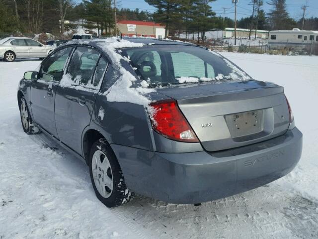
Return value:
<svg viewBox="0 0 318 239">
<path fill-rule="evenodd" d="M 199 142 L 175 101 L 160 101 L 150 106 L 153 107 L 152 126 L 158 133 L 176 141 Z"/>
</svg>

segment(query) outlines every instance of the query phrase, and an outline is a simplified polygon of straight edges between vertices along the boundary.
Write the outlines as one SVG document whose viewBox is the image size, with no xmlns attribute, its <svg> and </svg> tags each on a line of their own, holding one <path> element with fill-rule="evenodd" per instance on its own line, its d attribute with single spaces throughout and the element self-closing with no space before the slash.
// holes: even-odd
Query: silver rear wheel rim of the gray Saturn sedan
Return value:
<svg viewBox="0 0 318 239">
<path fill-rule="evenodd" d="M 98 193 L 109 198 L 113 191 L 113 173 L 109 160 L 104 152 L 96 150 L 93 154 L 91 169 Z"/>
</svg>

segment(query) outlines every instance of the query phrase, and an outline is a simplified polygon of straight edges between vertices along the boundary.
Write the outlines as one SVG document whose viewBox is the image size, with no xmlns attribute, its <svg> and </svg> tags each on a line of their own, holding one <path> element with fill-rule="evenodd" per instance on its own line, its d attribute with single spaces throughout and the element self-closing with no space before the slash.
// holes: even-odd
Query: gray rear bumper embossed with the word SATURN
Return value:
<svg viewBox="0 0 318 239">
<path fill-rule="evenodd" d="M 228 197 L 291 172 L 302 154 L 302 133 L 286 134 L 215 153 L 159 153 L 111 144 L 128 188 L 170 203 Z"/>
</svg>

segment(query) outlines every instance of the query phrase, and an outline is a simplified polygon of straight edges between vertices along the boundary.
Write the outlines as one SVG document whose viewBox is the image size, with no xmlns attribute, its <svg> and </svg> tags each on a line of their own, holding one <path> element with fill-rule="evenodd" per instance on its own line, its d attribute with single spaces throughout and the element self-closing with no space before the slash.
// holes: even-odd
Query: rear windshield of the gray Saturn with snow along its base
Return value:
<svg viewBox="0 0 318 239">
<path fill-rule="evenodd" d="M 122 49 L 142 80 L 151 87 L 216 80 L 245 80 L 245 73 L 206 49 L 184 45 L 152 45 Z"/>
</svg>

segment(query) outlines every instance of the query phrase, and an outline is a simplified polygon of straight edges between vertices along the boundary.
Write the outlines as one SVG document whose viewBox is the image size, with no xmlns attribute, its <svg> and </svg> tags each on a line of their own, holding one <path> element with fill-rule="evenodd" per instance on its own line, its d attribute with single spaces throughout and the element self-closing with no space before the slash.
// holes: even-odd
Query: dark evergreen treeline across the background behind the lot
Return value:
<svg viewBox="0 0 318 239">
<path fill-rule="evenodd" d="M 234 20 L 229 15 L 224 18 L 216 16 L 213 11 L 216 0 L 145 1 L 157 10 L 150 13 L 138 8 L 118 8 L 117 5 L 117 20 L 160 22 L 166 25 L 166 36 L 199 32 L 201 41 L 204 41 L 207 31 L 234 27 Z M 286 0 L 267 0 L 271 5 L 269 12 L 262 9 L 263 0 L 249 1 L 251 15 L 239 19 L 238 28 L 302 28 L 302 19 L 295 20 L 289 16 Z M 120 0 L 117 0 L 118 3 Z M 40 32 L 59 35 L 76 27 L 75 22 L 87 29 L 97 28 L 99 33 L 109 36 L 114 34 L 114 15 L 114 0 L 82 0 L 79 4 L 73 0 L 0 0 L 0 36 L 19 32 L 25 35 Z M 304 29 L 318 30 L 318 17 L 305 18 Z"/>
</svg>

